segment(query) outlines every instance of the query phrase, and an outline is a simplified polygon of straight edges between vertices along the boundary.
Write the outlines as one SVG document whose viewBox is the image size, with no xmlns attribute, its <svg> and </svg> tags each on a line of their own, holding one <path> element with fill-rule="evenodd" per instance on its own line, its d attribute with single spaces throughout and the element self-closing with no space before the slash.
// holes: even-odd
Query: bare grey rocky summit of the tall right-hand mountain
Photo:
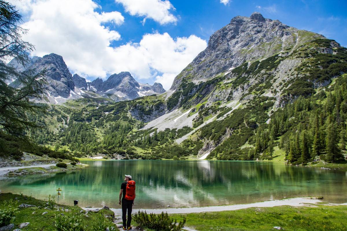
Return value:
<svg viewBox="0 0 347 231">
<path fill-rule="evenodd" d="M 286 26 L 278 20 L 265 19 L 259 12 L 251 17 L 237 16 L 217 30 L 208 47 L 175 78 L 171 89 L 181 81 L 205 82 L 214 75 L 228 72 L 242 63 L 265 59 L 286 49 L 294 49 L 313 37 L 322 35 Z"/>
</svg>

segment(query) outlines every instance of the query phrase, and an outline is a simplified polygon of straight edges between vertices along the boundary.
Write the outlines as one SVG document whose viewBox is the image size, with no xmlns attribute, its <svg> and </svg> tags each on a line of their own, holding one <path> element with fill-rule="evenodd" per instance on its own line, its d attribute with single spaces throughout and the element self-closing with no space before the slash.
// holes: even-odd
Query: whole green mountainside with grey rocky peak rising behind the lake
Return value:
<svg viewBox="0 0 347 231">
<path fill-rule="evenodd" d="M 259 15 L 213 34 L 169 91 L 50 105 L 33 139 L 75 157 L 345 159 L 347 48 Z"/>
</svg>

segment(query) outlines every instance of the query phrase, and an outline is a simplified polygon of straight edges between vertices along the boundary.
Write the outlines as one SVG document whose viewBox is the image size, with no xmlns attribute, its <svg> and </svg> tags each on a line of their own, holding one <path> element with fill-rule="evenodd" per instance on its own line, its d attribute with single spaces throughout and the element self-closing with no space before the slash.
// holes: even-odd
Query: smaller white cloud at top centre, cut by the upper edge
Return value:
<svg viewBox="0 0 347 231">
<path fill-rule="evenodd" d="M 165 0 L 115 0 L 121 3 L 125 11 L 133 16 L 145 17 L 143 23 L 147 18 L 151 18 L 161 25 L 167 23 L 176 23 L 177 18 L 172 15 L 169 10 L 175 10 L 170 1 Z"/>
</svg>

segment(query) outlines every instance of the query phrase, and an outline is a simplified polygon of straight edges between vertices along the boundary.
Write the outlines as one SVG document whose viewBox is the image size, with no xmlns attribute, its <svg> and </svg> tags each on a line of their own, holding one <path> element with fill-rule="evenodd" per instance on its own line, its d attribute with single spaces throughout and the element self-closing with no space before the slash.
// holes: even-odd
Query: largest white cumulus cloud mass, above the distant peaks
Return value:
<svg viewBox="0 0 347 231">
<path fill-rule="evenodd" d="M 120 39 L 120 34 L 104 23 L 124 23 L 117 11 L 98 13 L 95 9 L 100 6 L 92 0 L 16 3 L 27 14 L 22 27 L 28 33 L 23 39 L 35 45 L 32 55 L 59 54 L 72 73 L 88 80 L 129 71 L 140 81 L 156 80 L 168 89 L 174 77 L 207 46 L 195 35 L 172 38 L 168 33 L 154 32 L 143 35 L 139 43 L 112 47 L 111 42 Z"/>
</svg>

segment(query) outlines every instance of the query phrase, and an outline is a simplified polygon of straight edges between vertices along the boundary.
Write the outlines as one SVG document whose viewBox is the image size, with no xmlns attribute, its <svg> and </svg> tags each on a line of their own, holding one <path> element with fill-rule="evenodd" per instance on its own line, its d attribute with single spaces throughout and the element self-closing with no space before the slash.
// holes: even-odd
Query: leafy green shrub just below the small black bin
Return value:
<svg viewBox="0 0 347 231">
<path fill-rule="evenodd" d="M 54 227 L 57 231 L 83 231 L 81 213 L 79 211 L 71 211 L 68 215 L 63 216 L 56 213 Z"/>
</svg>

